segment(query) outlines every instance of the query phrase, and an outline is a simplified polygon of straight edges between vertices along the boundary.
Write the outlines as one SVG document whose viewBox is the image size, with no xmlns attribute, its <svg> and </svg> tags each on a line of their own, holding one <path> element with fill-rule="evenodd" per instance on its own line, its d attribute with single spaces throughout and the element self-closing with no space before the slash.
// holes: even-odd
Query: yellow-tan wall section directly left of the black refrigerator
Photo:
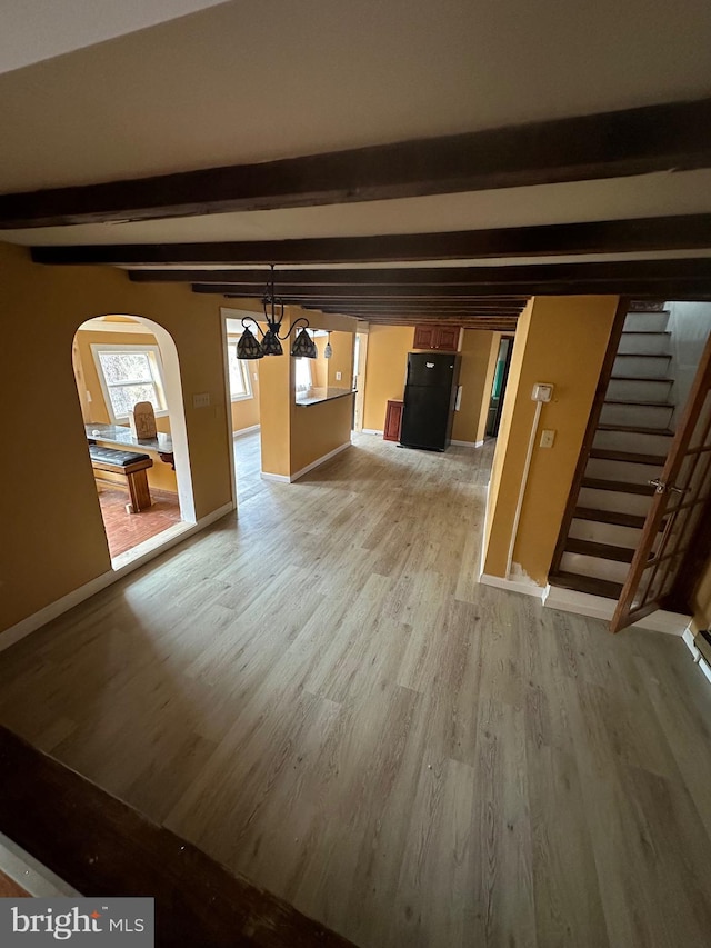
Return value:
<svg viewBox="0 0 711 948">
<path fill-rule="evenodd" d="M 402 398 L 413 326 L 371 326 L 363 398 L 363 428 L 382 431 L 388 400 Z"/>
</svg>

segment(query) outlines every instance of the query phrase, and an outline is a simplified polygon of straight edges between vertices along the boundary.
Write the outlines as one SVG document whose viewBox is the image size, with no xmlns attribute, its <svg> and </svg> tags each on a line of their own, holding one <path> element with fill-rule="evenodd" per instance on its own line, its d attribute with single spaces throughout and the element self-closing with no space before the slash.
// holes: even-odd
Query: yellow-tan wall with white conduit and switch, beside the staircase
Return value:
<svg viewBox="0 0 711 948">
<path fill-rule="evenodd" d="M 505 576 L 509 541 L 535 405 L 534 382 L 555 386 L 544 405 L 513 562 L 545 585 L 617 310 L 617 297 L 538 297 L 519 319 L 488 506 L 484 572 Z M 538 447 L 553 429 L 553 448 Z"/>
</svg>

